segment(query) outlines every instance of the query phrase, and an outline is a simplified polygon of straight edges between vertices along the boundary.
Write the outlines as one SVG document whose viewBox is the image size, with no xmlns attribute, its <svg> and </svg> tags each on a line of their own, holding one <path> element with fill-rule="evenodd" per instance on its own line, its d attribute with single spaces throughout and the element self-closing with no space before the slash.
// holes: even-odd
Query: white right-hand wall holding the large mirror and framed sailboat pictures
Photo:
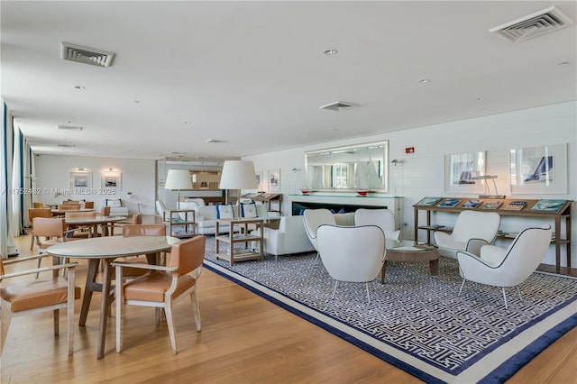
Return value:
<svg viewBox="0 0 577 384">
<path fill-rule="evenodd" d="M 325 142 L 287 151 L 247 156 L 253 160 L 257 172 L 263 170 L 266 178 L 268 169 L 280 169 L 280 189 L 283 194 L 294 194 L 306 187 L 305 151 L 338 147 L 362 142 L 389 140 L 389 160 L 401 160 L 390 167 L 389 196 L 405 197 L 405 238 L 413 235 L 413 208 L 422 197 L 475 197 L 444 190 L 444 158 L 447 154 L 486 151 L 487 174 L 498 175 L 497 187 L 500 194 L 513 198 L 560 198 L 577 199 L 575 170 L 577 160 L 577 102 L 520 110 L 512 113 L 494 114 L 452 123 L 438 123 L 393 133 L 338 142 Z M 568 193 L 562 195 L 511 195 L 508 184 L 509 150 L 567 143 L 568 148 Z M 414 147 L 415 152 L 406 154 L 405 148 Z M 299 169 L 293 172 L 291 169 Z M 283 212 L 290 212 L 289 198 L 284 200 Z M 572 206 L 572 266 L 577 265 L 577 217 Z M 533 223 L 517 218 L 503 219 L 504 230 L 518 230 Z M 419 233 L 420 234 L 420 233 Z M 422 233 L 423 235 L 425 233 Z M 563 247 L 564 248 L 564 247 Z M 565 265 L 562 252 L 562 265 Z M 550 247 L 545 258 L 554 264 L 554 247 Z"/>
</svg>

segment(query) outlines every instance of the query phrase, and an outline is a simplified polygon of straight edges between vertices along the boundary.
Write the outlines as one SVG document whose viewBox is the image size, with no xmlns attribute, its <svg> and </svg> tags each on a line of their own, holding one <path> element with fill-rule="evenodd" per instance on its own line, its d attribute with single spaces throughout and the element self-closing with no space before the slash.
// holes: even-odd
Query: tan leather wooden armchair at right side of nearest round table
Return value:
<svg viewBox="0 0 577 384">
<path fill-rule="evenodd" d="M 204 236 L 196 236 L 172 246 L 168 266 L 137 264 L 150 270 L 145 275 L 116 284 L 116 352 L 123 350 L 124 306 L 154 306 L 163 308 L 169 328 L 172 352 L 177 353 L 177 339 L 172 308 L 180 298 L 190 297 L 197 332 L 200 332 L 200 313 L 197 302 L 197 280 L 205 257 Z M 113 262 L 118 281 L 122 281 L 126 264 Z M 135 267 L 136 265 L 129 265 Z M 159 315 L 157 311 L 157 324 Z"/>
</svg>

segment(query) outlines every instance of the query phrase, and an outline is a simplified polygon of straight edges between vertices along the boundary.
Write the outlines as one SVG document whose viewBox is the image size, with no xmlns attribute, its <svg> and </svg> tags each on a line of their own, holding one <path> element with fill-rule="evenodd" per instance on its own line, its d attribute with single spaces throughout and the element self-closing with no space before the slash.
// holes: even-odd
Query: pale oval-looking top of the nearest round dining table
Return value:
<svg viewBox="0 0 577 384">
<path fill-rule="evenodd" d="M 103 236 L 60 242 L 46 251 L 51 255 L 76 259 L 105 259 L 166 251 L 180 242 L 171 236 Z"/>
</svg>

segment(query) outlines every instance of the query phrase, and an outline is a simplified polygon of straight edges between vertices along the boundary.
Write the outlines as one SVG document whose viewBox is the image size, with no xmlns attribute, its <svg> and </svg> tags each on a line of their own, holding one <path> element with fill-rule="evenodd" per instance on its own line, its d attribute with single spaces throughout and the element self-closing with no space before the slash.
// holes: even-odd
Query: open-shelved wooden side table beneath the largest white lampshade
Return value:
<svg viewBox="0 0 577 384">
<path fill-rule="evenodd" d="M 253 224 L 257 226 L 258 234 L 251 234 L 248 232 L 248 225 Z M 229 233 L 220 233 L 221 225 L 229 227 Z M 241 227 L 241 233 L 234 233 L 234 227 Z M 259 218 L 254 219 L 218 219 L 216 220 L 215 241 L 216 241 L 216 260 L 224 259 L 233 265 L 236 261 L 245 260 L 264 260 L 264 238 L 263 238 L 263 220 Z M 229 244 L 228 252 L 220 251 L 220 242 Z M 252 250 L 251 242 L 259 242 L 258 251 Z M 242 243 L 244 248 L 235 248 L 234 244 Z"/>
</svg>

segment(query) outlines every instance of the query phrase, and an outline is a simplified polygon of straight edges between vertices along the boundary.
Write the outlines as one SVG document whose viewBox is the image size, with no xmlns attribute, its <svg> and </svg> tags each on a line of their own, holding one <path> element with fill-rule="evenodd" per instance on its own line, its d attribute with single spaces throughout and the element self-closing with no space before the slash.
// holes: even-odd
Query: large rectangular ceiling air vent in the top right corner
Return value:
<svg viewBox="0 0 577 384">
<path fill-rule="evenodd" d="M 489 32 L 497 33 L 507 41 L 519 42 L 560 30 L 572 23 L 572 20 L 559 8 L 550 6 L 535 14 L 528 14 L 513 22 L 491 28 Z"/>
</svg>

